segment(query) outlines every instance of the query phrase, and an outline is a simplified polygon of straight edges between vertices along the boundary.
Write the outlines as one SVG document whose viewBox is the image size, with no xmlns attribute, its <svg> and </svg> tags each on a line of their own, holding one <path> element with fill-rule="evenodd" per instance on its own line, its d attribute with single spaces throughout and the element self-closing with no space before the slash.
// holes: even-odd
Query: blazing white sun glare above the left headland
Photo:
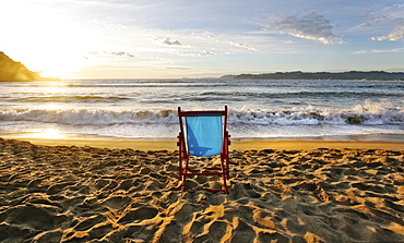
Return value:
<svg viewBox="0 0 404 243">
<path fill-rule="evenodd" d="M 91 65 L 85 53 L 97 37 L 80 19 L 29 1 L 9 1 L 4 8 L 0 22 L 8 23 L 3 32 L 12 35 L 1 38 L 0 46 L 11 58 L 43 77 L 74 77 Z"/>
</svg>

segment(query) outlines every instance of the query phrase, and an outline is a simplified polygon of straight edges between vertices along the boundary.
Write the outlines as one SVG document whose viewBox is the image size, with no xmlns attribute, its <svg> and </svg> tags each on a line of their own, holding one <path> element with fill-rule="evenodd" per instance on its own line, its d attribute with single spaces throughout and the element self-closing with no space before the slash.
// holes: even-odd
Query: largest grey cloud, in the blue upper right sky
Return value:
<svg viewBox="0 0 404 243">
<path fill-rule="evenodd" d="M 261 25 L 266 28 L 276 29 L 283 34 L 304 39 L 312 39 L 322 44 L 333 44 L 336 39 L 341 40 L 341 37 L 332 33 L 333 26 L 330 24 L 330 21 L 316 12 L 300 17 L 275 16 L 271 23 Z"/>
</svg>

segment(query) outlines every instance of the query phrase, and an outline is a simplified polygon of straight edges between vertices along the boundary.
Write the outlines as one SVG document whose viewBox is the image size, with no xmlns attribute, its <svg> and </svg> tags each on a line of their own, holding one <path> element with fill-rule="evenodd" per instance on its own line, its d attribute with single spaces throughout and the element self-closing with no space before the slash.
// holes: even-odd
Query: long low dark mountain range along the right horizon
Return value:
<svg viewBox="0 0 404 243">
<path fill-rule="evenodd" d="M 239 75 L 224 75 L 221 78 L 227 80 L 371 80 L 371 81 L 404 81 L 404 73 L 388 73 L 384 71 L 370 72 L 342 72 L 342 73 L 305 73 L 305 72 L 276 72 L 263 74 L 239 74 Z"/>
</svg>

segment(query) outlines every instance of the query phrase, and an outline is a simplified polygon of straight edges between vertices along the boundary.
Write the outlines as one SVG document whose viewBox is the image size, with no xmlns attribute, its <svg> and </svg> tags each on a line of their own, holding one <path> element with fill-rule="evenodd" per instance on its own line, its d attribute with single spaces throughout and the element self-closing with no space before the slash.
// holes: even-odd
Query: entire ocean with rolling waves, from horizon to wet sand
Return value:
<svg viewBox="0 0 404 243">
<path fill-rule="evenodd" d="M 0 83 L 0 137 L 175 141 L 177 108 L 227 106 L 235 141 L 404 142 L 404 82 L 68 80 Z"/>
</svg>

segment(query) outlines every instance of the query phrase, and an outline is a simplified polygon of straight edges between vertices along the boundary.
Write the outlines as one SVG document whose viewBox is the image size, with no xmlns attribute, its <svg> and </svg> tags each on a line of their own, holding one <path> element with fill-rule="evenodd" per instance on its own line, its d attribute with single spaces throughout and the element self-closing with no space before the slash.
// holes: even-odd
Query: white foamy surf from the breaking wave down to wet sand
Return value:
<svg viewBox="0 0 404 243">
<path fill-rule="evenodd" d="M 114 108 L 110 108 L 114 109 Z M 0 132 L 40 132 L 118 138 L 173 138 L 177 110 L 106 110 L 38 107 L 0 110 Z M 347 108 L 229 109 L 234 138 L 404 134 L 404 109 L 370 100 Z"/>
</svg>

